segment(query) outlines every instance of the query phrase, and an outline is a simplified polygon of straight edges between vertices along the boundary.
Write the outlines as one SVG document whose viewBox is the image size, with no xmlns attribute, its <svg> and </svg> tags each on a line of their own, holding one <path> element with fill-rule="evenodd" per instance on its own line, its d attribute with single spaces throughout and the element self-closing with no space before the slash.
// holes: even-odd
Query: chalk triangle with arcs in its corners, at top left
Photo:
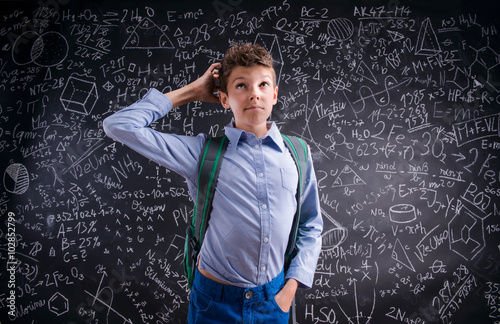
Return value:
<svg viewBox="0 0 500 324">
<path fill-rule="evenodd" d="M 151 19 L 144 18 L 131 32 L 123 49 L 172 49 L 174 44 Z"/>
</svg>

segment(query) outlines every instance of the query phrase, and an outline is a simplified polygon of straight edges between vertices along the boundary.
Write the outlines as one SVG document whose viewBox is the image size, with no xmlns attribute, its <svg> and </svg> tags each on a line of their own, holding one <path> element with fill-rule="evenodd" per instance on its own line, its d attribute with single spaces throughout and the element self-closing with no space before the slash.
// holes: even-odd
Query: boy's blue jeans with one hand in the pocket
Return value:
<svg viewBox="0 0 500 324">
<path fill-rule="evenodd" d="M 239 288 L 212 281 L 196 269 L 188 324 L 286 324 L 289 313 L 282 311 L 274 299 L 284 284 L 283 271 L 265 285 Z"/>
</svg>

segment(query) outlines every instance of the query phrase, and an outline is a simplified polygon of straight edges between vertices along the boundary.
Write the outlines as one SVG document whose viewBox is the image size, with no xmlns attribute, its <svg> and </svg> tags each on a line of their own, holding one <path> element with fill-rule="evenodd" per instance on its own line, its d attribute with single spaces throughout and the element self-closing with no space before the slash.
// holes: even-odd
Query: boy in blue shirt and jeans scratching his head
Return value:
<svg viewBox="0 0 500 324">
<path fill-rule="evenodd" d="M 198 158 L 207 135 L 164 134 L 147 126 L 192 101 L 220 101 L 233 112 L 188 323 L 287 323 L 297 288 L 312 286 L 323 222 L 310 154 L 298 253 L 286 279 L 283 272 L 298 174 L 276 124 L 267 121 L 277 98 L 271 55 L 260 45 L 241 44 L 187 86 L 164 95 L 150 90 L 104 120 L 108 136 L 182 175 L 196 200 Z"/>
</svg>

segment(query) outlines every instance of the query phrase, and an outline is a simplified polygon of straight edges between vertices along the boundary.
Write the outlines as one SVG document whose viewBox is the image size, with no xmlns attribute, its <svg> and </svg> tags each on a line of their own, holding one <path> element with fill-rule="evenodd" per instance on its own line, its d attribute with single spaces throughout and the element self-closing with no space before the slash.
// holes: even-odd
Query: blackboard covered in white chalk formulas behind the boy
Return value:
<svg viewBox="0 0 500 324">
<path fill-rule="evenodd" d="M 325 222 L 298 323 L 500 322 L 496 1 L 10 1 L 0 14 L 2 323 L 183 323 L 183 179 L 102 120 L 273 55 L 282 132 L 311 146 Z M 219 134 L 216 104 L 152 127 Z"/>
</svg>

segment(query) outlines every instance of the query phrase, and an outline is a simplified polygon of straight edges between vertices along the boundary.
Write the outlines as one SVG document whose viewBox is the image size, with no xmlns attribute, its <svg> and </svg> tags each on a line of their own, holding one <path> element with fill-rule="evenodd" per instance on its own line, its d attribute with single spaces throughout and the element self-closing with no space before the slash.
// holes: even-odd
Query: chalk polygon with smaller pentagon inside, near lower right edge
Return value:
<svg viewBox="0 0 500 324">
<path fill-rule="evenodd" d="M 448 223 L 450 249 L 467 261 L 473 260 L 486 246 L 484 219 L 465 205 L 457 207 L 455 216 Z"/>
</svg>

